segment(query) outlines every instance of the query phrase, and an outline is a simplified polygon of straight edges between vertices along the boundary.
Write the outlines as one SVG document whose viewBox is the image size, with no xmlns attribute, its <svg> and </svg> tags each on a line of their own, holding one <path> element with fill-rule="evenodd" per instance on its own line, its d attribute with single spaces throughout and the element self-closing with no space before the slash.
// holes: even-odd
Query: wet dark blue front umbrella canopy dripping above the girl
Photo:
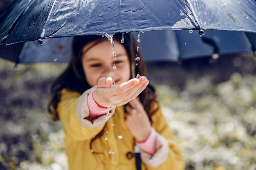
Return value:
<svg viewBox="0 0 256 170">
<path fill-rule="evenodd" d="M 132 31 L 256 32 L 255 13 L 255 0 L 14 0 L 0 17 L 0 45 Z"/>
</svg>

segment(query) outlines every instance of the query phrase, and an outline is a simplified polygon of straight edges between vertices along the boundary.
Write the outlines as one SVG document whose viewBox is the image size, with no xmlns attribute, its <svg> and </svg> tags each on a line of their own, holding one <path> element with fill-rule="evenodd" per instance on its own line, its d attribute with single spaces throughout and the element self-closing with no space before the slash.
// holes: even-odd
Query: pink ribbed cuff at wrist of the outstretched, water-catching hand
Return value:
<svg viewBox="0 0 256 170">
<path fill-rule="evenodd" d="M 96 88 L 94 88 L 88 95 L 88 98 L 87 98 L 87 103 L 88 103 L 88 108 L 89 108 L 89 119 L 90 120 L 94 120 L 94 119 L 97 119 L 98 117 L 102 116 L 102 115 L 105 115 L 109 110 L 112 110 L 112 107 L 110 108 L 105 108 L 105 107 L 101 107 L 99 106 L 93 96 L 92 96 L 92 93 L 95 91 Z"/>
</svg>

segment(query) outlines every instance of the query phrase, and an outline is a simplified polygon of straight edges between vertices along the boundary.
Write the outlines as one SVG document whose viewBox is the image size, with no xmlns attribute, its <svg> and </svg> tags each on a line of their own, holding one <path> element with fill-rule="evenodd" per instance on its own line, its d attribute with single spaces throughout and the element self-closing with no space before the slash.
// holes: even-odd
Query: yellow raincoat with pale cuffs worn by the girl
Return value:
<svg viewBox="0 0 256 170">
<path fill-rule="evenodd" d="M 61 91 L 58 113 L 65 131 L 70 170 L 136 170 L 135 141 L 124 122 L 124 106 L 116 107 L 109 117 L 101 116 L 92 123 L 84 119 L 89 115 L 87 96 L 93 88 L 82 95 L 67 89 Z M 157 103 L 152 106 L 155 108 Z M 184 169 L 180 148 L 160 109 L 152 120 L 157 132 L 157 152 L 151 157 L 141 151 L 141 170 Z M 91 139 L 104 126 L 103 135 L 92 142 L 91 151 Z"/>
</svg>

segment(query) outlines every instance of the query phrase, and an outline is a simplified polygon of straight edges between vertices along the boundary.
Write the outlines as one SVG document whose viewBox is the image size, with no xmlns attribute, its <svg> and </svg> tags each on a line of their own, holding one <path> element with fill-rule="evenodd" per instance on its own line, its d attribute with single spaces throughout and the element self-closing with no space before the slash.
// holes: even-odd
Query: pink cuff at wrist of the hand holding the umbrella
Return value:
<svg viewBox="0 0 256 170">
<path fill-rule="evenodd" d="M 147 138 L 146 141 L 144 142 L 136 142 L 137 146 L 143 151 L 148 153 L 149 155 L 153 156 L 157 150 L 157 133 L 155 132 L 154 128 L 151 128 L 151 132 Z"/>
</svg>

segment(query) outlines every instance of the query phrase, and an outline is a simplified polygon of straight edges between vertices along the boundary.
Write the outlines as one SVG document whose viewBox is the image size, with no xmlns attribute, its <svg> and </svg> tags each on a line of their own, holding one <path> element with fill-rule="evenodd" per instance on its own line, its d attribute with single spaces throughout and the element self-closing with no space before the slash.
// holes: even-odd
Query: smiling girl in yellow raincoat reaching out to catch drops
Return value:
<svg viewBox="0 0 256 170">
<path fill-rule="evenodd" d="M 52 84 L 48 110 L 63 124 L 70 170 L 181 170 L 155 89 L 145 76 L 135 78 L 145 75 L 136 40 L 130 33 L 121 39 L 114 35 L 112 49 L 101 35 L 74 37 L 71 60 Z"/>
</svg>

